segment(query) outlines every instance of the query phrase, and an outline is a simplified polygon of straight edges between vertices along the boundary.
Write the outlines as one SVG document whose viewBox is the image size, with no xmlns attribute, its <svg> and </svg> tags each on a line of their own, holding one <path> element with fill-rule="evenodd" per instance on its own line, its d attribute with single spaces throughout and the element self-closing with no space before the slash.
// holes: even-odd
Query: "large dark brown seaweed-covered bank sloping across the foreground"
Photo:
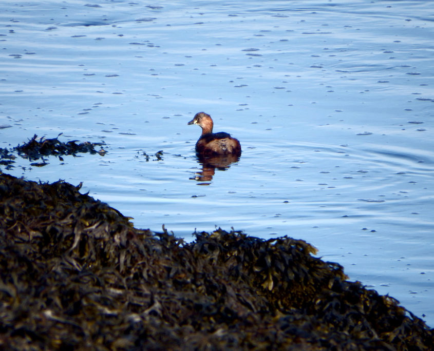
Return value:
<svg viewBox="0 0 434 351">
<path fill-rule="evenodd" d="M 0 348 L 433 349 L 433 329 L 302 240 L 196 235 L 0 173 Z"/>
</svg>

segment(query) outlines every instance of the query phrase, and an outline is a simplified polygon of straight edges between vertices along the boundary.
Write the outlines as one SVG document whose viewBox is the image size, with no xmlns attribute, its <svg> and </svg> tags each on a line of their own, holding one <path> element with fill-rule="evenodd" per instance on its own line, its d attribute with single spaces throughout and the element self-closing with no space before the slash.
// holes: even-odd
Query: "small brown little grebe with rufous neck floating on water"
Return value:
<svg viewBox="0 0 434 351">
<path fill-rule="evenodd" d="M 241 155 L 241 145 L 238 140 L 225 132 L 213 133 L 213 120 L 205 112 L 198 112 L 187 124 L 197 124 L 202 128 L 202 135 L 196 143 L 196 153 L 201 157 L 220 155 Z"/>
</svg>

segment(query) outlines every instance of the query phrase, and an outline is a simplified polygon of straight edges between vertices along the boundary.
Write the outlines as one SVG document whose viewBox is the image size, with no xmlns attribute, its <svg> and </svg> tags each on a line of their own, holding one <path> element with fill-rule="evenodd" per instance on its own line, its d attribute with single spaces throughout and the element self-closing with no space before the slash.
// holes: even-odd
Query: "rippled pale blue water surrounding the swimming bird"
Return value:
<svg viewBox="0 0 434 351">
<path fill-rule="evenodd" d="M 433 37 L 417 0 L 2 2 L 0 147 L 104 141 L 8 172 L 187 240 L 304 239 L 432 326 Z M 199 111 L 243 149 L 205 181 Z"/>
</svg>

